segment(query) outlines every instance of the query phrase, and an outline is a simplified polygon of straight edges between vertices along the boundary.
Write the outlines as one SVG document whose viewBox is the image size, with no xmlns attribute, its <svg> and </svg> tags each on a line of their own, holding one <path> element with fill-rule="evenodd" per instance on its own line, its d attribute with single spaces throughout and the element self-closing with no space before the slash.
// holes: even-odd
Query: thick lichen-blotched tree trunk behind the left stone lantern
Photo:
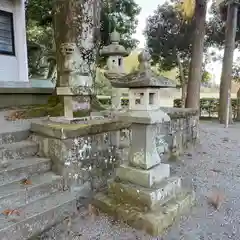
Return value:
<svg viewBox="0 0 240 240">
<path fill-rule="evenodd" d="M 94 89 L 96 60 L 100 47 L 101 0 L 56 0 L 54 37 L 56 44 L 57 84 L 59 86 L 63 56 L 62 43 L 76 43 L 76 78 Z M 78 85 L 78 82 L 75 83 Z"/>
</svg>

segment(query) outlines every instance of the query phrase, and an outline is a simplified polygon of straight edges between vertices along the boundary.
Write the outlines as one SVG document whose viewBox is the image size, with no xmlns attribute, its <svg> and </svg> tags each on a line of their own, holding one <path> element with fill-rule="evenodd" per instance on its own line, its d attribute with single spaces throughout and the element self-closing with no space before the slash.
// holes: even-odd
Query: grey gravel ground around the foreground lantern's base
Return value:
<svg viewBox="0 0 240 240">
<path fill-rule="evenodd" d="M 143 232 L 116 224 L 110 218 L 94 219 L 83 209 L 74 219 L 70 234 L 48 239 L 82 240 L 208 240 L 240 239 L 240 124 L 225 129 L 217 123 L 201 123 L 200 143 L 185 153 L 172 172 L 192 182 L 197 204 L 188 216 L 182 216 L 165 236 L 151 238 Z M 224 197 L 219 210 L 207 196 L 218 193 Z M 46 239 L 46 238 L 45 238 Z"/>
</svg>

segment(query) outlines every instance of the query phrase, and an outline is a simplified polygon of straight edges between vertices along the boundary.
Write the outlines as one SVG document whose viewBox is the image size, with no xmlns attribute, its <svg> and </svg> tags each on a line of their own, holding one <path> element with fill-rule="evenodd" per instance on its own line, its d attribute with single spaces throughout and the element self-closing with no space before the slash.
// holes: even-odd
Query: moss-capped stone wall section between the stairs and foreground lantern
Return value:
<svg viewBox="0 0 240 240">
<path fill-rule="evenodd" d="M 126 159 L 124 129 L 129 126 L 107 119 L 73 125 L 42 121 L 32 123 L 31 139 L 39 143 L 39 155 L 53 161 L 53 171 L 64 176 L 66 188 L 99 190 Z M 117 146 L 120 130 L 124 144 Z"/>
</svg>

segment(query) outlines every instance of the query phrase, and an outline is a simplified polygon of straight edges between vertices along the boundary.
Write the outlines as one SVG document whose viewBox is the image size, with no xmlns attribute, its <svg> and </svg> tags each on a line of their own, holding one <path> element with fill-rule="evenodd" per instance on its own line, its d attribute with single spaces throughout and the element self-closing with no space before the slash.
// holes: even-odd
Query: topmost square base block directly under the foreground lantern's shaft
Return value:
<svg viewBox="0 0 240 240">
<path fill-rule="evenodd" d="M 127 181 L 142 187 L 151 188 L 153 185 L 160 183 L 164 178 L 169 177 L 169 164 L 159 164 L 158 166 L 143 170 L 122 164 L 116 169 L 116 177 L 122 181 Z"/>
</svg>

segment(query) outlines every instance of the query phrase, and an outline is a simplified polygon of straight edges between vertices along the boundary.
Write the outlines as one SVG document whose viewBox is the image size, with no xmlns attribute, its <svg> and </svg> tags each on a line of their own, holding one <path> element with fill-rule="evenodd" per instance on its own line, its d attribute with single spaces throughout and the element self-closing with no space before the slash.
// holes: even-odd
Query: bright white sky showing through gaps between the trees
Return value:
<svg viewBox="0 0 240 240">
<path fill-rule="evenodd" d="M 134 37 L 140 41 L 138 47 L 143 48 L 145 45 L 145 38 L 142 33 L 146 25 L 146 19 L 149 15 L 153 14 L 157 6 L 163 4 L 165 0 L 135 0 L 135 2 L 141 7 L 142 11 L 138 16 L 138 27 Z M 222 65 L 220 62 L 214 62 L 208 66 L 208 71 L 212 73 L 213 81 L 216 83 L 220 83 L 221 70 Z"/>
</svg>

